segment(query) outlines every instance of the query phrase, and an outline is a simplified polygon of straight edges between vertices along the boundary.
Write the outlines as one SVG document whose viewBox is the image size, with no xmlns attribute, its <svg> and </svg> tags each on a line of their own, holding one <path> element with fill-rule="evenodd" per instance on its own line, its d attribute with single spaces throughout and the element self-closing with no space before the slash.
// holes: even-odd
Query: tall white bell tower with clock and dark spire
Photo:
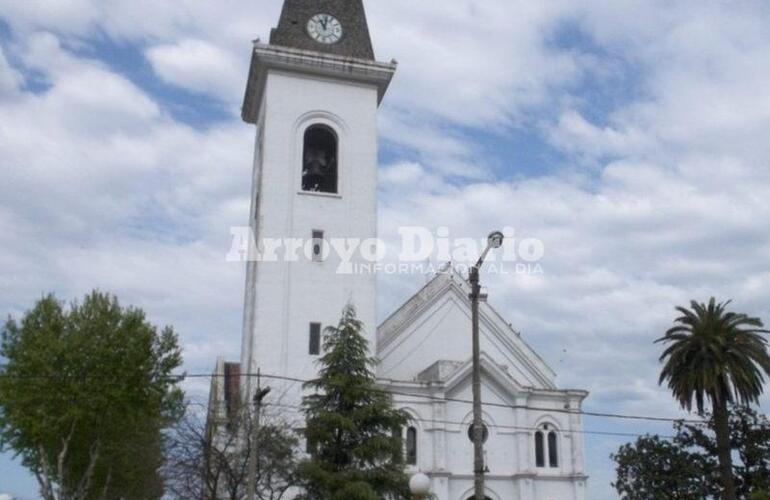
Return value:
<svg viewBox="0 0 770 500">
<path fill-rule="evenodd" d="M 242 117 L 256 125 L 259 251 L 246 270 L 245 372 L 313 378 L 323 329 L 348 302 L 374 352 L 375 276 L 335 248 L 377 236 L 377 112 L 395 69 L 374 59 L 362 0 L 285 0 L 270 43 L 254 44 Z M 300 382 L 266 383 L 299 405 Z M 254 388 L 244 380 L 244 396 Z"/>
</svg>

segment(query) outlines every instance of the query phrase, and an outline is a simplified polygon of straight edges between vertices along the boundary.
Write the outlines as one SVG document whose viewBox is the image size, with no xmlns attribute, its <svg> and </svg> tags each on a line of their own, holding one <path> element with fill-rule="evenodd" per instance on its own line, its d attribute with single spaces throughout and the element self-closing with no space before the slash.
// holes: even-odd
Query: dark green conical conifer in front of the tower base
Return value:
<svg viewBox="0 0 770 500">
<path fill-rule="evenodd" d="M 337 327 L 324 331 L 317 379 L 305 384 L 305 437 L 310 459 L 300 465 L 306 498 L 381 500 L 407 498 L 400 432 L 407 416 L 376 386 L 375 360 L 355 308 L 348 305 Z"/>
</svg>

